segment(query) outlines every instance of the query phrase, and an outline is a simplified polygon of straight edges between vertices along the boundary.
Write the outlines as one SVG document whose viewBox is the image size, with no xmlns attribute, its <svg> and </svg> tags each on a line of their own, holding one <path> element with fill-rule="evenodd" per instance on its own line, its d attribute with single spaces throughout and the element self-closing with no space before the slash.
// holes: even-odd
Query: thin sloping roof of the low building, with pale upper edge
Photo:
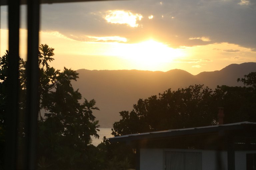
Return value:
<svg viewBox="0 0 256 170">
<path fill-rule="evenodd" d="M 190 135 L 190 134 L 200 134 L 200 133 L 211 133 L 218 132 L 221 130 L 235 130 L 240 129 L 243 125 L 255 125 L 255 122 L 238 122 L 232 124 L 223 124 L 223 125 L 214 125 L 214 126 L 205 126 L 205 127 L 195 127 L 195 128 L 181 128 L 181 129 L 170 129 L 163 131 L 153 131 L 146 133 L 136 133 L 128 134 L 122 136 L 116 136 L 109 138 L 110 141 L 131 141 L 131 140 L 140 140 L 148 138 L 157 138 L 157 137 L 168 137 L 168 136 L 180 136 L 180 135 Z M 256 128 L 255 128 L 256 131 Z"/>
</svg>

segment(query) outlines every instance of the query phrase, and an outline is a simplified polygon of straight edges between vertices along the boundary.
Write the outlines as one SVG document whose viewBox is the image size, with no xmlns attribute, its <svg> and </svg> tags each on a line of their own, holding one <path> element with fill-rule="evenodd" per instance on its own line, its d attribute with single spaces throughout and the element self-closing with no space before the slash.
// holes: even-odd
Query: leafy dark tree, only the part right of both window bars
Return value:
<svg viewBox="0 0 256 170">
<path fill-rule="evenodd" d="M 89 146 L 92 135 L 99 137 L 98 121 L 92 115 L 92 110 L 98 110 L 96 102 L 84 99 L 81 104 L 81 94 L 71 85 L 78 73 L 50 67 L 54 49 L 47 45 L 39 49 L 40 112 L 45 112 L 40 113 L 39 158 L 51 160 L 52 167 L 59 169 L 97 169 L 96 157 L 90 156 L 96 148 Z"/>
</svg>

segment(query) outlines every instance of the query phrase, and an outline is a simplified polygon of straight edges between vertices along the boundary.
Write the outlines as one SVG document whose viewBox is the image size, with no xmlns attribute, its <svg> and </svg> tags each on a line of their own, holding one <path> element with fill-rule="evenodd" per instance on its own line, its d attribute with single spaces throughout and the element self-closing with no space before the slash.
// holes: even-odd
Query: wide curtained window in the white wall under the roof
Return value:
<svg viewBox="0 0 256 170">
<path fill-rule="evenodd" d="M 166 170 L 202 170 L 200 152 L 165 152 Z"/>
</svg>

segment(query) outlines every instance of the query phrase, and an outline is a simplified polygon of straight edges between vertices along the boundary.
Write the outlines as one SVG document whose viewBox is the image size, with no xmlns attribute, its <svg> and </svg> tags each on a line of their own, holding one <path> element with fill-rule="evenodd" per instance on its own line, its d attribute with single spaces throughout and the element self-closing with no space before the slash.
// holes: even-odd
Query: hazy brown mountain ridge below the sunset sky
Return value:
<svg viewBox="0 0 256 170">
<path fill-rule="evenodd" d="M 212 89 L 217 85 L 242 86 L 237 78 L 255 72 L 256 63 L 230 64 L 219 71 L 192 75 L 187 71 L 173 69 L 167 72 L 142 70 L 86 70 L 79 69 L 79 79 L 72 82 L 86 99 L 95 99 L 100 111 L 95 111 L 102 128 L 112 127 L 119 121 L 119 112 L 131 111 L 138 99 L 158 95 L 171 88 L 185 88 L 204 84 Z"/>
</svg>

